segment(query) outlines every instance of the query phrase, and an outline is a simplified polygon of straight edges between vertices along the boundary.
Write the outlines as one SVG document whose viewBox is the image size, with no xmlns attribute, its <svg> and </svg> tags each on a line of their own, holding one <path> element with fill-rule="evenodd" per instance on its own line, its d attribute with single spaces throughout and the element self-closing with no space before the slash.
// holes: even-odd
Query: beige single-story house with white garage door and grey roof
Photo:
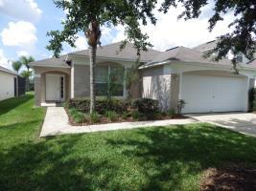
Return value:
<svg viewBox="0 0 256 191">
<path fill-rule="evenodd" d="M 105 96 L 109 74 L 117 74 L 120 79 L 114 96 L 127 96 L 125 76 L 136 62 L 137 52 L 131 43 L 122 52 L 119 49 L 120 43 L 98 48 L 97 96 Z M 163 110 L 176 109 L 183 99 L 183 113 L 247 111 L 256 64 L 241 63 L 240 74 L 234 74 L 229 59 L 215 62 L 202 55 L 198 47 L 142 52 L 141 79 L 132 85 L 132 97 L 157 99 Z M 89 96 L 88 50 L 35 61 L 31 66 L 35 70 L 35 105 Z"/>
</svg>

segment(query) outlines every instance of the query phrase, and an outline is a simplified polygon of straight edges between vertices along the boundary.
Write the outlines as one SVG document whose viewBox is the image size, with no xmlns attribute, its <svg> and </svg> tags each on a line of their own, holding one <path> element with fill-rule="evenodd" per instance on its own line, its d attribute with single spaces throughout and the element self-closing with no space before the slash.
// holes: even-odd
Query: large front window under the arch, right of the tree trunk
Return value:
<svg viewBox="0 0 256 191">
<path fill-rule="evenodd" d="M 122 67 L 97 66 L 96 96 L 124 96 L 124 72 Z"/>
</svg>

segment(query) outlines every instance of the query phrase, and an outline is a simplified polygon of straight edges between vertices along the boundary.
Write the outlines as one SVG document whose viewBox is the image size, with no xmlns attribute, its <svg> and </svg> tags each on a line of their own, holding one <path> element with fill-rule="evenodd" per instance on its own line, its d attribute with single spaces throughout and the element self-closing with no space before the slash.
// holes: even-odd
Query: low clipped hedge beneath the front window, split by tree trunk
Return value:
<svg viewBox="0 0 256 191">
<path fill-rule="evenodd" d="M 70 99 L 68 108 L 76 108 L 77 110 L 88 113 L 90 110 L 89 99 Z M 126 112 L 128 104 L 124 100 L 119 99 L 97 99 L 95 102 L 95 110 L 97 113 L 104 115 L 106 111 L 114 111 L 118 114 Z"/>
</svg>

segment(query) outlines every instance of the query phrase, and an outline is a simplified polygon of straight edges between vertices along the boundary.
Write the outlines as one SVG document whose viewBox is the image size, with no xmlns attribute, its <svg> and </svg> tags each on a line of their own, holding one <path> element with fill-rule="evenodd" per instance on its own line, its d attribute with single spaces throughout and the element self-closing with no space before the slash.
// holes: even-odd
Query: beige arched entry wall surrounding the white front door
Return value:
<svg viewBox="0 0 256 191">
<path fill-rule="evenodd" d="M 65 99 L 70 98 L 71 80 L 70 68 L 54 68 L 54 67 L 34 67 L 35 71 L 35 106 L 40 106 L 45 102 L 45 76 L 46 74 L 64 74 L 65 75 Z"/>
</svg>

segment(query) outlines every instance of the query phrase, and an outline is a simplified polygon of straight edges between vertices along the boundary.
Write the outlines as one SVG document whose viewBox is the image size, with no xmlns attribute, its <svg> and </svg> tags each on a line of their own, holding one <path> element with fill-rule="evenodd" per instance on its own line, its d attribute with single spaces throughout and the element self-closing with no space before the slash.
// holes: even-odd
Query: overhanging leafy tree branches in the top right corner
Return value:
<svg viewBox="0 0 256 191">
<path fill-rule="evenodd" d="M 255 53 L 256 35 L 256 1 L 255 0 L 164 0 L 160 11 L 166 13 L 171 7 L 176 7 L 177 2 L 183 4 L 185 11 L 181 12 L 178 18 L 185 20 L 198 18 L 201 9 L 208 5 L 213 5 L 213 15 L 209 18 L 209 31 L 211 32 L 216 24 L 223 20 L 223 15 L 232 13 L 233 22 L 229 27 L 234 27 L 232 32 L 227 32 L 220 36 L 217 47 L 209 52 L 216 53 L 215 59 L 224 58 L 227 53 L 244 53 L 248 59 L 253 58 Z M 237 72 L 237 62 L 233 58 L 234 69 Z"/>
</svg>

